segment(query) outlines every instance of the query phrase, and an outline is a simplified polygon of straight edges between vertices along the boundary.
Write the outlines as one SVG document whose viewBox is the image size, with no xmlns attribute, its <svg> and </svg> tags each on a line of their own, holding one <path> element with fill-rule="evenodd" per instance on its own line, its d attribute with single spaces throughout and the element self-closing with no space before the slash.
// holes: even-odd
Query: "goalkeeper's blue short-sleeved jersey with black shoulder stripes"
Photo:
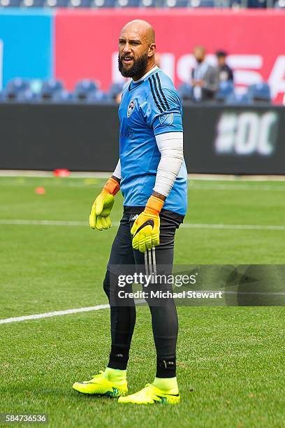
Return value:
<svg viewBox="0 0 285 428">
<path fill-rule="evenodd" d="M 145 206 L 153 192 L 161 153 L 156 135 L 182 132 L 182 105 L 171 79 L 155 68 L 124 88 L 119 106 L 119 157 L 124 206 Z M 187 169 L 183 162 L 163 209 L 185 215 Z"/>
</svg>

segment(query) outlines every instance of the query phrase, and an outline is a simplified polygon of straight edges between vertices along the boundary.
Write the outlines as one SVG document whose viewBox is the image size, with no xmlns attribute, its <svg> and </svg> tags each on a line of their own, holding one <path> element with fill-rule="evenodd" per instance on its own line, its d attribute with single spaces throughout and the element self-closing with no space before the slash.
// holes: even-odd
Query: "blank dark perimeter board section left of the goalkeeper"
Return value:
<svg viewBox="0 0 285 428">
<path fill-rule="evenodd" d="M 0 104 L 0 169 L 110 171 L 119 156 L 114 106 Z"/>
</svg>

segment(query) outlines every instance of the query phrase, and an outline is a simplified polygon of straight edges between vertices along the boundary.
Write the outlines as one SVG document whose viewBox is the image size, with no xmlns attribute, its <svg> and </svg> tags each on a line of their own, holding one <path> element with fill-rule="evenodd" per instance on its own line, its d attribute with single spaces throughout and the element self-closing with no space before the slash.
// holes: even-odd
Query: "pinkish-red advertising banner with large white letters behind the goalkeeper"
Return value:
<svg viewBox="0 0 285 428">
<path fill-rule="evenodd" d="M 214 52 L 226 50 L 235 85 L 268 81 L 272 97 L 285 94 L 285 11 L 221 9 L 102 9 L 58 10 L 55 17 L 55 77 L 68 89 L 82 78 L 92 78 L 107 90 L 122 79 L 117 70 L 119 31 L 140 18 L 156 31 L 161 69 L 175 85 L 190 81 L 195 45 Z"/>
</svg>

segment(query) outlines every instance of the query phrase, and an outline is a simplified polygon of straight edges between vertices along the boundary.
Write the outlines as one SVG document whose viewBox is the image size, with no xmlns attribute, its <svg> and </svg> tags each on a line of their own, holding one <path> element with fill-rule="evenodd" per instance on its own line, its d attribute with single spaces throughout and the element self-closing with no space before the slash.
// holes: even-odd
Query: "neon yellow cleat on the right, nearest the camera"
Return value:
<svg viewBox="0 0 285 428">
<path fill-rule="evenodd" d="M 118 403 L 133 403 L 133 404 L 177 404 L 180 403 L 180 394 L 166 394 L 159 390 L 152 383 L 147 383 L 145 387 L 136 392 L 136 394 L 119 397 Z"/>
</svg>

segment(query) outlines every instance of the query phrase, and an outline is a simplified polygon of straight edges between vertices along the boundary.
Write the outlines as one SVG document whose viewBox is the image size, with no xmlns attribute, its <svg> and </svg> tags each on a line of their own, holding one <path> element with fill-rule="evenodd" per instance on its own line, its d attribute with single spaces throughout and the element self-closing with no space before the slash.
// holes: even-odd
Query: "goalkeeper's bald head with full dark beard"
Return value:
<svg viewBox="0 0 285 428">
<path fill-rule="evenodd" d="M 154 66 L 154 28 L 144 20 L 128 22 L 119 35 L 119 71 L 138 80 Z"/>
</svg>

